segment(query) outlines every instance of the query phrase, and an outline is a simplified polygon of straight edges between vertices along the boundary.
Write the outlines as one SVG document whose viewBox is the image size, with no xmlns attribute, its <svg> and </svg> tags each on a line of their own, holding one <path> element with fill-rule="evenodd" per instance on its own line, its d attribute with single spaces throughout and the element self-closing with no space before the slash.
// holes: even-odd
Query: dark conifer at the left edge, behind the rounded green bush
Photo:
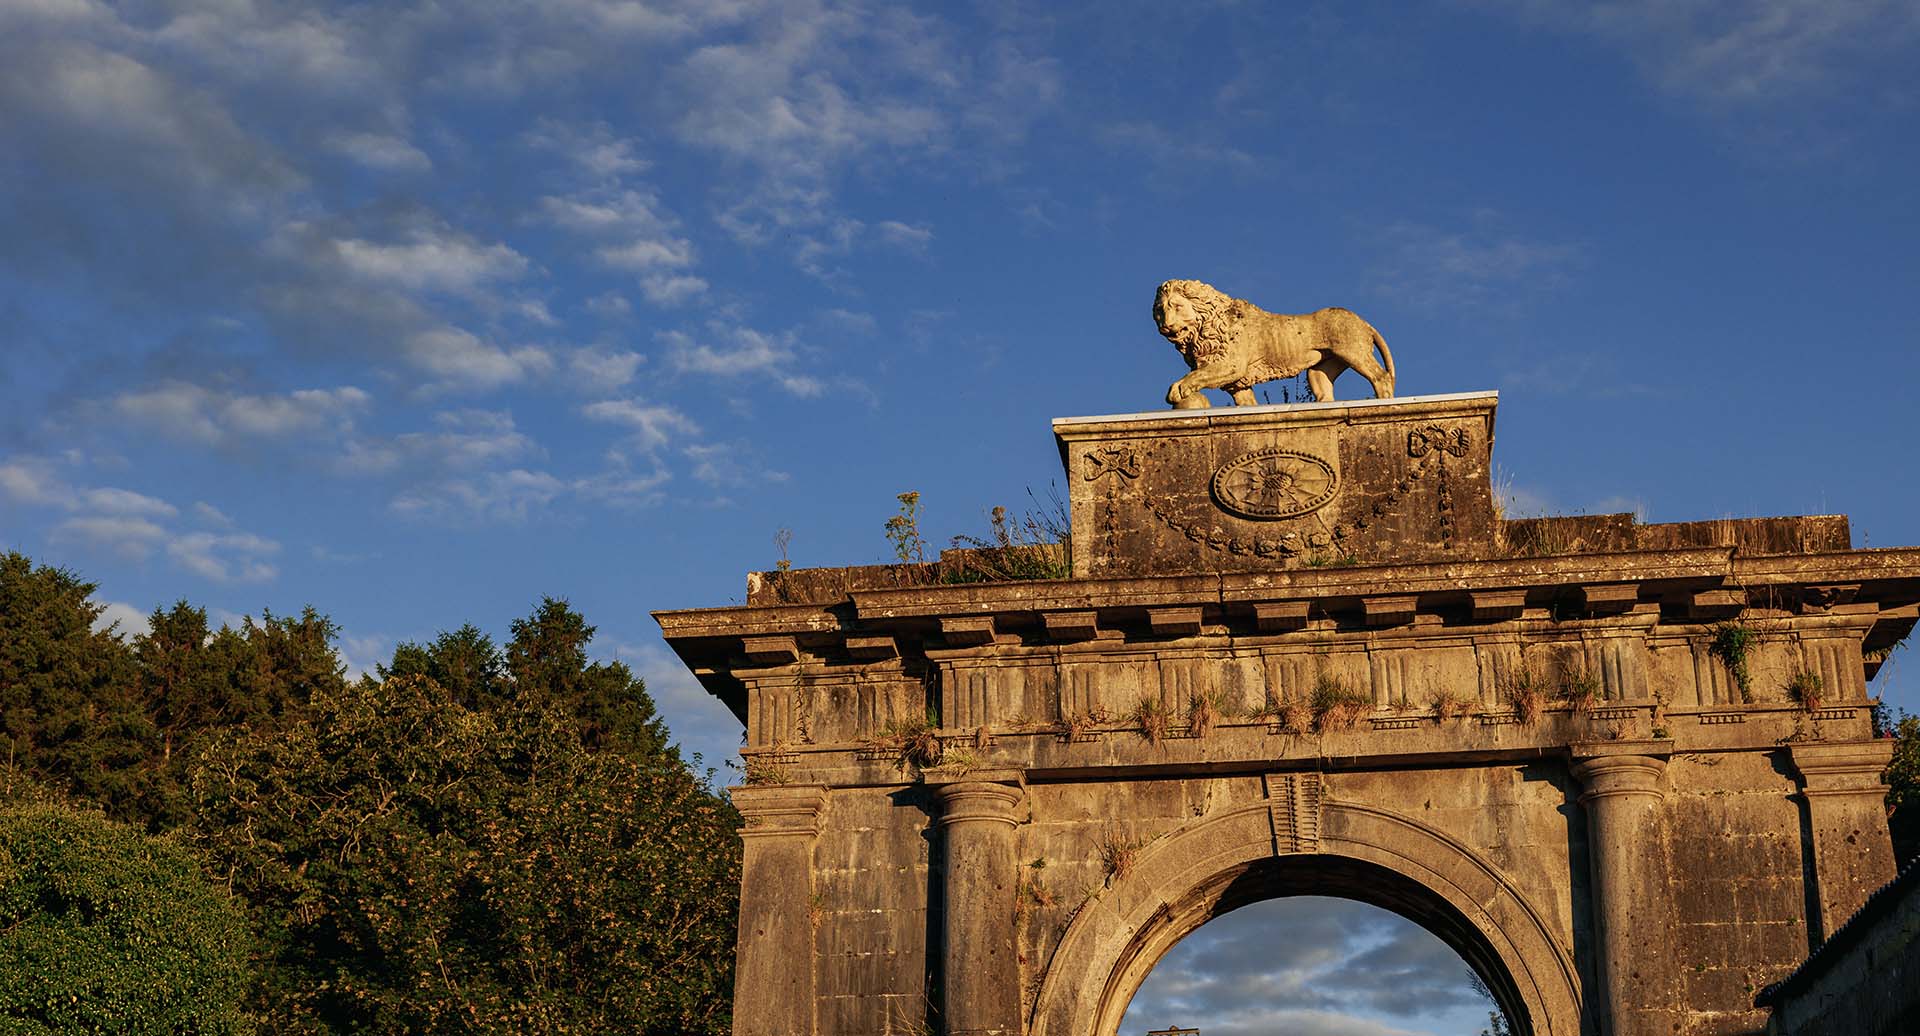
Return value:
<svg viewBox="0 0 1920 1036">
<path fill-rule="evenodd" d="M 94 583 L 0 556 L 0 762 L 113 815 L 136 813 L 156 742 L 134 693 L 132 654 L 94 629 Z"/>
</svg>

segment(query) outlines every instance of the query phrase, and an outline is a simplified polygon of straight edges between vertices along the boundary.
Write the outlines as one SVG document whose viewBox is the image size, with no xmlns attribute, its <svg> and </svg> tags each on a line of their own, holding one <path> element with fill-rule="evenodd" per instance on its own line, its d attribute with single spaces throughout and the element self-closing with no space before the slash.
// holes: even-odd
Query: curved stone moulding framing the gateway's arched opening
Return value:
<svg viewBox="0 0 1920 1036">
<path fill-rule="evenodd" d="M 1411 817 L 1327 802 L 1317 852 L 1275 854 L 1269 804 L 1242 806 L 1158 838 L 1068 927 L 1035 998 L 1031 1036 L 1116 1036 L 1133 994 L 1187 934 L 1283 894 L 1369 902 L 1452 946 L 1500 1000 L 1517 1034 L 1578 1036 L 1572 954 L 1486 859 Z"/>
</svg>

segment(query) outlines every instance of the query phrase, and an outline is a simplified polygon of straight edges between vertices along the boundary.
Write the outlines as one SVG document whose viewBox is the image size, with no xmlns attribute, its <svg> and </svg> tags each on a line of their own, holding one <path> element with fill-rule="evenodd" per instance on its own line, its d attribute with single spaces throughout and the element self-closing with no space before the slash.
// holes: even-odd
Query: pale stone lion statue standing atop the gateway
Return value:
<svg viewBox="0 0 1920 1036">
<path fill-rule="evenodd" d="M 1254 386 L 1308 372 L 1313 399 L 1332 399 L 1332 380 L 1346 370 L 1373 384 L 1375 399 L 1394 395 L 1394 353 L 1373 324 L 1350 309 L 1267 313 L 1212 284 L 1169 280 L 1154 294 L 1154 324 L 1187 357 L 1192 374 L 1173 382 L 1167 403 L 1208 407 L 1200 389 L 1225 389 L 1238 407 L 1256 403 Z M 1373 361 L 1373 349 L 1380 359 Z"/>
</svg>

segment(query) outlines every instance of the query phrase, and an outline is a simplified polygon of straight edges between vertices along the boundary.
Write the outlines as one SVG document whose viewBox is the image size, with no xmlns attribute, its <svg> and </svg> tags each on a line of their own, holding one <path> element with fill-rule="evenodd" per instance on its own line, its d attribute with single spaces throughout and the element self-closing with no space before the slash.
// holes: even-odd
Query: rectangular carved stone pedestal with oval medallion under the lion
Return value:
<svg viewBox="0 0 1920 1036">
<path fill-rule="evenodd" d="M 1073 576 L 1486 556 L 1498 393 L 1056 418 Z"/>
</svg>

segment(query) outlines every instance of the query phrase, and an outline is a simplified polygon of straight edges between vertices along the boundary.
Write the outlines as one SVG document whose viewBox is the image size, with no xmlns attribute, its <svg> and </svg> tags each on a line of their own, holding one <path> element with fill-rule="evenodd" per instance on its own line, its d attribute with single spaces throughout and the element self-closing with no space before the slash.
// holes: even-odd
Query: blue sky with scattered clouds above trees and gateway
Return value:
<svg viewBox="0 0 1920 1036">
<path fill-rule="evenodd" d="M 1501 391 L 1521 512 L 1920 543 L 1920 8 L 0 0 L 0 545 L 117 616 L 647 612 L 1156 409 L 1154 286 Z M 1352 376 L 1342 395 L 1363 391 Z M 132 624 L 129 622 L 129 627 Z M 1889 700 L 1920 706 L 1899 666 Z"/>
</svg>

